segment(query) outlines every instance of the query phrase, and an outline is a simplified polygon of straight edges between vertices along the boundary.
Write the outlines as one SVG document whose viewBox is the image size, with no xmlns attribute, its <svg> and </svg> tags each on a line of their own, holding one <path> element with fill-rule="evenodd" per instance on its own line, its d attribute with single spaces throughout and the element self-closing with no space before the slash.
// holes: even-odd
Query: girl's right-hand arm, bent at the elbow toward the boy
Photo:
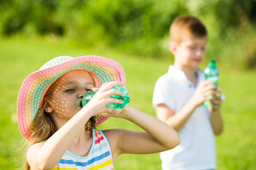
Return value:
<svg viewBox="0 0 256 170">
<path fill-rule="evenodd" d="M 135 132 L 124 129 L 104 131 L 112 146 L 112 157 L 115 161 L 120 154 L 150 154 L 172 149 L 180 143 L 179 135 L 172 127 L 161 120 L 126 106 L 119 117 L 132 121 L 146 132 Z"/>
</svg>

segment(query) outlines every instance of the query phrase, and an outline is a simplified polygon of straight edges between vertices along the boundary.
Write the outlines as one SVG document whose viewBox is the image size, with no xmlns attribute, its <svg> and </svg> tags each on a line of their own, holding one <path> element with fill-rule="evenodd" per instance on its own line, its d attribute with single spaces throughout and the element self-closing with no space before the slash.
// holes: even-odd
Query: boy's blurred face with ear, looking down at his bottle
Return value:
<svg viewBox="0 0 256 170">
<path fill-rule="evenodd" d="M 186 38 L 180 44 L 171 42 L 170 50 L 175 57 L 175 64 L 195 69 L 205 57 L 207 37 Z"/>
</svg>

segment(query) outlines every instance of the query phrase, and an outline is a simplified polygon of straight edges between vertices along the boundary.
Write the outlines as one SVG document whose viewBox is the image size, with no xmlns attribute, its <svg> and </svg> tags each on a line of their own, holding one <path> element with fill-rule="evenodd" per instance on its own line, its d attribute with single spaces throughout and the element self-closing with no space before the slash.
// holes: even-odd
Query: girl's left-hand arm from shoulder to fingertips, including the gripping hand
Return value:
<svg viewBox="0 0 256 170">
<path fill-rule="evenodd" d="M 116 98 L 110 98 L 112 95 L 123 95 L 119 90 L 111 89 L 116 85 L 122 85 L 119 82 L 106 83 L 94 95 L 91 101 L 83 107 L 76 115 L 63 124 L 45 143 L 37 143 L 30 146 L 27 151 L 27 161 L 32 170 L 35 169 L 53 169 L 59 162 L 66 150 L 76 138 L 77 134 L 85 129 L 85 123 L 94 115 L 119 114 L 119 110 L 112 110 L 105 107 L 108 103 L 121 103 L 123 101 Z"/>
</svg>

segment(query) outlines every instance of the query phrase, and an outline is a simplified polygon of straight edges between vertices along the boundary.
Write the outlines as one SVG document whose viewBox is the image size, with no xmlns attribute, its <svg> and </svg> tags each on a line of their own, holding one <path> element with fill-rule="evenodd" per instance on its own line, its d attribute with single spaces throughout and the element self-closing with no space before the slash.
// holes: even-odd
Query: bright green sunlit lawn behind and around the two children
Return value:
<svg viewBox="0 0 256 170">
<path fill-rule="evenodd" d="M 154 84 L 167 71 L 171 60 L 129 56 L 103 47 L 76 48 L 63 39 L 0 38 L 0 169 L 20 169 L 23 162 L 23 137 L 16 123 L 16 98 L 22 81 L 43 63 L 60 55 L 101 55 L 118 61 L 126 71 L 130 105 L 155 116 L 151 104 Z M 205 63 L 201 67 L 204 66 Z M 217 169 L 256 169 L 256 70 L 238 70 L 235 66 L 219 66 L 219 69 L 219 85 L 226 101 L 222 107 L 224 133 L 216 137 Z M 113 127 L 141 130 L 118 118 L 110 118 L 100 128 Z M 161 169 L 159 154 L 121 155 L 115 169 Z"/>
</svg>

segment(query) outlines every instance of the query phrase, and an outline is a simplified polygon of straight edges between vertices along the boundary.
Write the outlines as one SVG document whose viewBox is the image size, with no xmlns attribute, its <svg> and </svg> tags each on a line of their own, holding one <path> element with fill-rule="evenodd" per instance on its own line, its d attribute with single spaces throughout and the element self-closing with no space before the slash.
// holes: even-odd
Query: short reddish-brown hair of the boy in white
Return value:
<svg viewBox="0 0 256 170">
<path fill-rule="evenodd" d="M 186 37 L 203 38 L 207 30 L 202 22 L 190 15 L 179 16 L 174 19 L 170 28 L 171 41 L 182 42 Z"/>
</svg>

